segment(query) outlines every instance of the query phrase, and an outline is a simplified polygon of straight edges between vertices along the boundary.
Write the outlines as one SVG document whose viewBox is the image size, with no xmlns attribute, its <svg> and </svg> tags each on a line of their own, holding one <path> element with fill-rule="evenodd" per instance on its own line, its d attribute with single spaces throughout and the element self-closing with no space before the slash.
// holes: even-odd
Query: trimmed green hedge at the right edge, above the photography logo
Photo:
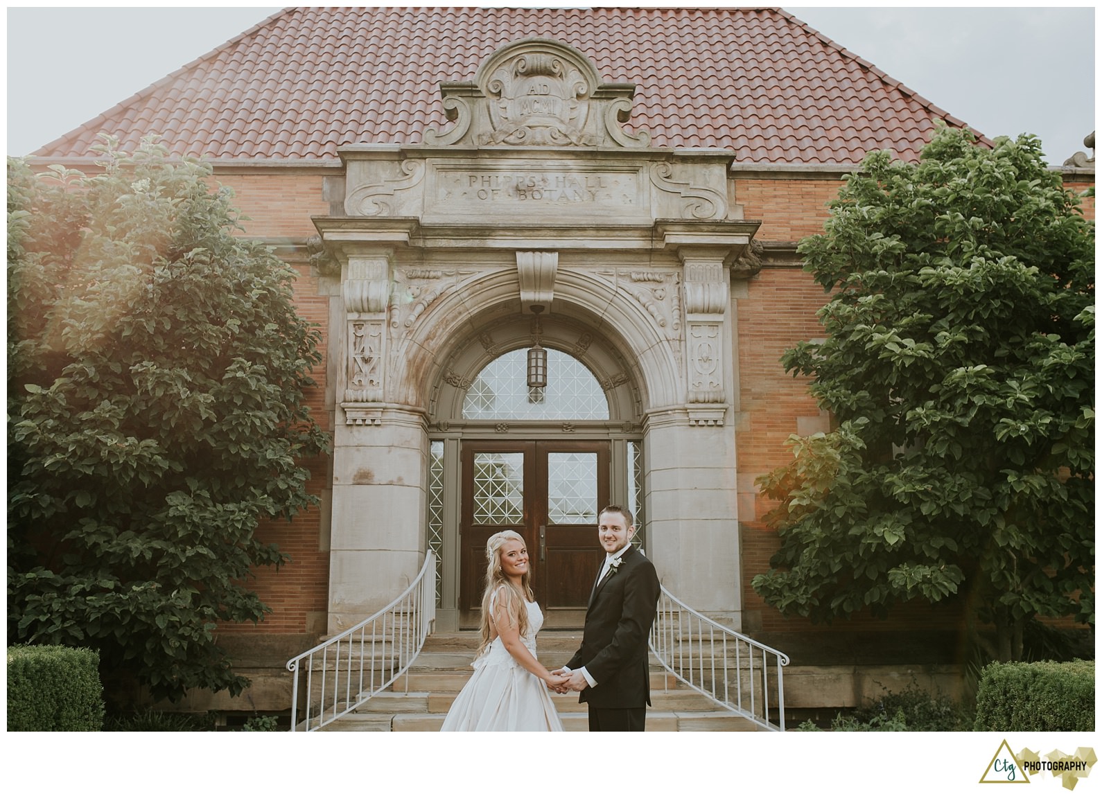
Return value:
<svg viewBox="0 0 1102 794">
<path fill-rule="evenodd" d="M 975 706 L 975 730 L 1093 731 L 1094 662 L 988 664 Z"/>
</svg>

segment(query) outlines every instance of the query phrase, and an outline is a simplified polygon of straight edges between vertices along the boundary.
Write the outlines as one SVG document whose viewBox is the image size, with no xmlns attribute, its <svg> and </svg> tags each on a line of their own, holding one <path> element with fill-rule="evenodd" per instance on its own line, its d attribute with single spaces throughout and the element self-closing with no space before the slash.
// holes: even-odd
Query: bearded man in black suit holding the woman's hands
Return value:
<svg viewBox="0 0 1102 794">
<path fill-rule="evenodd" d="M 582 646 L 555 673 L 590 706 L 590 730 L 644 730 L 650 705 L 647 638 L 658 605 L 658 574 L 631 545 L 631 511 L 611 504 L 597 519 L 605 561 L 585 612 Z"/>
</svg>

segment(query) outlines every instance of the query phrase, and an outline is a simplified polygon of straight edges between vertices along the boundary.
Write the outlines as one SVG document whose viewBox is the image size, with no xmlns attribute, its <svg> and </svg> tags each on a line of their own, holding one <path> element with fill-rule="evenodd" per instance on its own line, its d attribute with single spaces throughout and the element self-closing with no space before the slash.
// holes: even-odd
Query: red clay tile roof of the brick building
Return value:
<svg viewBox="0 0 1102 794">
<path fill-rule="evenodd" d="M 606 83 L 634 83 L 628 129 L 736 162 L 914 160 L 936 119 L 963 122 L 779 9 L 292 8 L 43 146 L 88 156 L 96 133 L 151 132 L 176 154 L 333 159 L 345 143 L 444 131 L 440 83 L 504 44 L 557 39 Z"/>
</svg>

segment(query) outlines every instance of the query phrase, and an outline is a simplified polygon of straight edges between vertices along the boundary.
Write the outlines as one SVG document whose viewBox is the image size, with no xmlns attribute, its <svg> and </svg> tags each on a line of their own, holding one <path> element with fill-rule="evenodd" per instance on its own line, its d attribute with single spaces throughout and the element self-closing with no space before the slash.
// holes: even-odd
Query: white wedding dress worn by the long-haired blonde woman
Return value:
<svg viewBox="0 0 1102 794">
<path fill-rule="evenodd" d="M 528 605 L 528 633 L 522 641 L 536 655 L 536 633 L 543 612 Z M 472 664 L 471 681 L 447 710 L 441 730 L 562 730 L 547 685 L 512 657 L 496 637 Z"/>
</svg>

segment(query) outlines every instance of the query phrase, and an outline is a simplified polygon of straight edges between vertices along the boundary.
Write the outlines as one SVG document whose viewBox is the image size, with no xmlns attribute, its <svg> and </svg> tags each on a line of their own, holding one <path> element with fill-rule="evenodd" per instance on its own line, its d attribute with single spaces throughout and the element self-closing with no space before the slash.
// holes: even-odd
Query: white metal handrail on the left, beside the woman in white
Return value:
<svg viewBox="0 0 1102 794">
<path fill-rule="evenodd" d="M 287 663 L 294 674 L 291 730 L 299 728 L 300 673 L 305 674 L 302 724 L 306 730 L 317 730 L 386 689 L 409 670 L 424 639 L 432 633 L 435 618 L 436 557 L 429 552 L 421 573 L 402 595 L 367 620 Z"/>
</svg>

